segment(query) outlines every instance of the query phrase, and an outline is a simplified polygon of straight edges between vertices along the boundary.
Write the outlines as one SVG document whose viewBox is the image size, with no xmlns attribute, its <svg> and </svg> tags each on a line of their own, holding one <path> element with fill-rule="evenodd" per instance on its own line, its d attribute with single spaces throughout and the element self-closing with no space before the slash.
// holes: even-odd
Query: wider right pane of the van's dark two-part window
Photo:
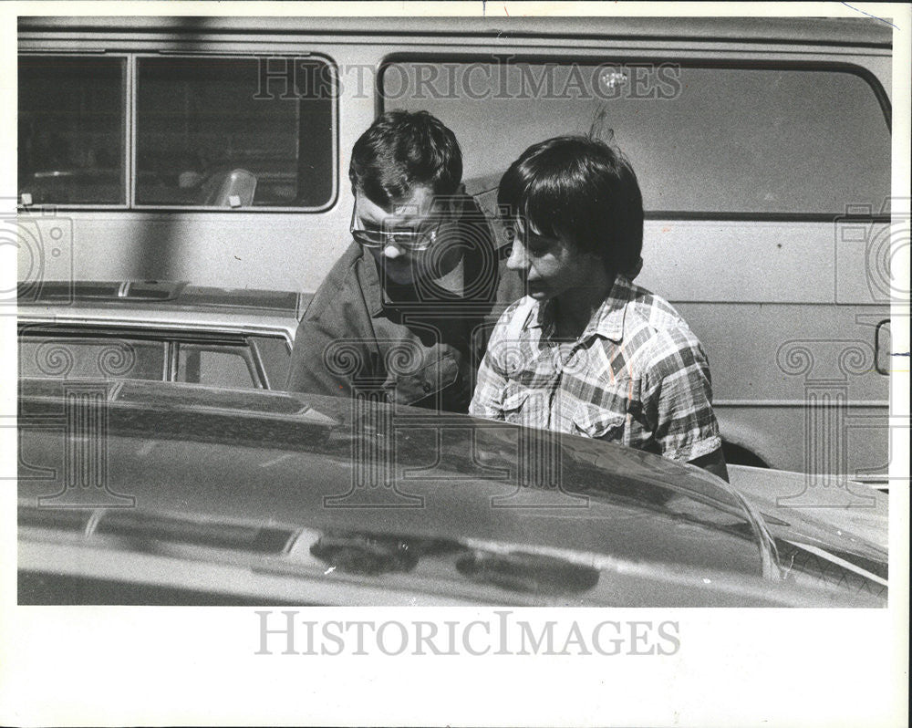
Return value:
<svg viewBox="0 0 912 728">
<path fill-rule="evenodd" d="M 234 193 L 236 203 L 247 205 L 251 192 L 254 205 L 329 202 L 333 81 L 325 61 L 140 57 L 137 63 L 138 203 L 223 206 L 234 204 Z"/>
</svg>

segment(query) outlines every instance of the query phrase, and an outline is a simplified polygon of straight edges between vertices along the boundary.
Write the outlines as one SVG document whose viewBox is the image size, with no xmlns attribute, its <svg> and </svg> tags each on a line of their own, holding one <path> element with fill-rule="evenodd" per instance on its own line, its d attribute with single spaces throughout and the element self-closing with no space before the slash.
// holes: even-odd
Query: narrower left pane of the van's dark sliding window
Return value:
<svg viewBox="0 0 912 728">
<path fill-rule="evenodd" d="M 20 200 L 125 203 L 125 62 L 19 57 Z"/>
</svg>

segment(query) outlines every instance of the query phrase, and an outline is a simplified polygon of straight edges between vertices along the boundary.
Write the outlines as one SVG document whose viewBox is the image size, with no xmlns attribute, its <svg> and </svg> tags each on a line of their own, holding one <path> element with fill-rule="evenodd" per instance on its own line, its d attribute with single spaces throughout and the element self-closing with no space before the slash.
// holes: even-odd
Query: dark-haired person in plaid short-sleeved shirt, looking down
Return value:
<svg viewBox="0 0 912 728">
<path fill-rule="evenodd" d="M 620 152 L 587 137 L 530 147 L 503 175 L 507 267 L 526 296 L 497 322 L 469 413 L 656 452 L 728 479 L 699 339 L 635 286 L 643 199 Z"/>
</svg>

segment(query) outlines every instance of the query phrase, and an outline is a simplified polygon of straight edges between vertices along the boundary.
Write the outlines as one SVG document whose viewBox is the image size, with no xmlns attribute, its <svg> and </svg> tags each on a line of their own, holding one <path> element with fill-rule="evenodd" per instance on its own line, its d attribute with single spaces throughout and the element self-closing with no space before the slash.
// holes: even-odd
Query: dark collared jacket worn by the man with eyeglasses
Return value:
<svg viewBox="0 0 912 728">
<path fill-rule="evenodd" d="M 287 390 L 468 411 L 496 321 L 503 255 L 471 197 L 461 211 L 462 295 L 433 282 L 412 286 L 408 295 L 400 286 L 385 290 L 373 257 L 351 244 L 297 328 Z M 399 289 L 395 297 L 392 287 Z M 511 286 L 502 296 L 514 293 Z"/>
</svg>

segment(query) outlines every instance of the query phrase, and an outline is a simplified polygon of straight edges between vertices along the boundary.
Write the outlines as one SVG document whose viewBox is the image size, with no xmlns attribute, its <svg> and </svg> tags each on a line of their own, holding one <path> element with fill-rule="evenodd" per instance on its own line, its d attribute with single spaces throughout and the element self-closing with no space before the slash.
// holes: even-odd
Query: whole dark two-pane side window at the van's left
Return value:
<svg viewBox="0 0 912 728">
<path fill-rule="evenodd" d="M 321 209 L 336 92 L 335 68 L 309 55 L 22 54 L 19 202 Z"/>
</svg>

